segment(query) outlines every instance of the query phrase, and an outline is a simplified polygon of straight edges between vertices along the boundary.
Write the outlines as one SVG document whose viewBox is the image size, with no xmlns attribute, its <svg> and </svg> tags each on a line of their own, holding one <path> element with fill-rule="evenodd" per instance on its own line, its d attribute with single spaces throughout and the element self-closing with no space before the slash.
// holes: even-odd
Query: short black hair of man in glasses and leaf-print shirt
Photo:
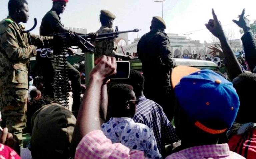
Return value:
<svg viewBox="0 0 256 159">
<path fill-rule="evenodd" d="M 124 111 L 123 106 L 126 105 L 126 101 L 132 99 L 133 87 L 128 84 L 116 84 L 109 90 L 109 106 L 110 111 Z M 112 112 L 110 112 L 111 114 Z"/>
</svg>

